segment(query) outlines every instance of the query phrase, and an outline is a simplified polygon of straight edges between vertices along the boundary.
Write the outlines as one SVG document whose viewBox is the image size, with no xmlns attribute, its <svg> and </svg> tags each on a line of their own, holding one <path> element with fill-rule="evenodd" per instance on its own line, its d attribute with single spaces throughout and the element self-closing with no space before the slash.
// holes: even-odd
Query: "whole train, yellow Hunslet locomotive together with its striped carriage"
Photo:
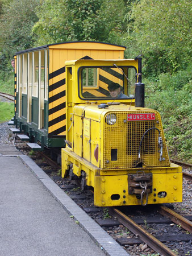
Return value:
<svg viewBox="0 0 192 256">
<path fill-rule="evenodd" d="M 71 42 L 16 53 L 14 123 L 32 149 L 60 148 L 62 177 L 93 187 L 98 207 L 180 202 L 181 167 L 160 114 L 144 106 L 141 58 L 124 60 L 124 49 Z"/>
</svg>

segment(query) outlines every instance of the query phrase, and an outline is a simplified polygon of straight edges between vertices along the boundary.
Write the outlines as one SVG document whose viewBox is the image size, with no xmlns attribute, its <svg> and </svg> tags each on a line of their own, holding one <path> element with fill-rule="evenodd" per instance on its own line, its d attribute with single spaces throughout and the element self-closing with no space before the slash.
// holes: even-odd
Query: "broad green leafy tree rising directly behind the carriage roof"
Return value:
<svg viewBox="0 0 192 256">
<path fill-rule="evenodd" d="M 33 28 L 36 45 L 72 40 L 118 43 L 126 31 L 123 0 L 45 0 Z"/>
</svg>

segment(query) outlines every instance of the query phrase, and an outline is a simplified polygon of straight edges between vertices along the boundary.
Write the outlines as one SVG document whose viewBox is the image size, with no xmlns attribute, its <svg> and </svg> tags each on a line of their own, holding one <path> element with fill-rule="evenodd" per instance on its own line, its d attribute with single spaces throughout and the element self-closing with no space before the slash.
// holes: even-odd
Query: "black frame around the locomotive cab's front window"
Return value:
<svg viewBox="0 0 192 256">
<path fill-rule="evenodd" d="M 126 76 L 128 76 L 128 69 L 129 68 L 133 68 L 133 69 L 135 69 L 135 75 L 137 74 L 137 69 L 136 69 L 136 67 L 134 67 L 134 66 L 132 66 L 132 65 L 118 65 L 118 67 L 119 68 L 122 68 L 123 69 L 123 72 L 124 72 L 124 68 L 127 68 L 127 73 L 126 72 L 124 72 L 125 74 L 126 74 Z M 105 65 L 95 65 L 95 66 L 88 66 L 88 65 L 86 65 L 86 66 L 81 66 L 81 67 L 79 67 L 78 68 L 78 71 L 77 71 L 77 77 L 78 77 L 78 97 L 81 99 L 81 100 L 84 100 L 84 101 L 87 101 L 87 100 L 91 100 L 91 101 L 98 101 L 98 100 L 114 100 L 114 98 L 112 98 L 112 97 L 110 97 L 110 96 L 106 96 L 106 97 L 90 97 L 90 98 L 88 98 L 88 97 L 83 97 L 83 95 L 82 95 L 82 90 L 83 89 L 87 89 L 87 87 L 84 87 L 84 86 L 82 86 L 82 77 L 81 77 L 81 73 L 82 73 L 82 69 L 83 68 L 114 68 L 114 66 L 111 66 L 111 65 L 108 65 L 108 66 L 105 66 Z M 123 73 L 122 73 L 122 75 L 123 75 Z M 124 84 L 124 81 L 125 81 L 125 79 L 126 79 L 126 77 L 124 77 L 124 75 L 123 75 L 123 90 L 124 90 L 124 86 L 125 86 L 125 84 Z M 135 78 L 135 83 L 137 82 L 137 76 L 136 76 L 136 78 Z M 90 86 L 90 87 L 88 87 L 89 89 L 90 88 L 93 88 L 93 89 L 98 89 L 99 88 L 99 85 L 98 85 L 98 88 L 94 88 L 93 86 Z M 115 99 L 115 100 L 132 100 L 132 99 L 134 99 L 135 98 L 135 95 L 134 96 L 129 96 L 129 94 L 130 94 L 130 92 L 129 92 L 129 90 L 130 90 L 130 85 L 128 84 L 128 81 L 127 81 L 127 89 L 128 89 L 128 93 L 127 93 L 127 96 L 128 96 L 128 98 L 121 98 L 121 99 Z"/>
</svg>

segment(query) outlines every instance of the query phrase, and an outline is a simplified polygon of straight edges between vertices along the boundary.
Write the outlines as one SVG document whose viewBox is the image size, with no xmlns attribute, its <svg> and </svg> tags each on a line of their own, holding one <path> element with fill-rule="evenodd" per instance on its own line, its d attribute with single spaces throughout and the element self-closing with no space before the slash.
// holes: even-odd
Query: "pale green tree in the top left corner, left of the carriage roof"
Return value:
<svg viewBox="0 0 192 256">
<path fill-rule="evenodd" d="M 32 47 L 31 28 L 37 21 L 39 0 L 3 1 L 0 16 L 0 68 L 9 70 L 10 59 L 16 51 Z M 7 66 L 8 64 L 8 66 Z"/>
</svg>

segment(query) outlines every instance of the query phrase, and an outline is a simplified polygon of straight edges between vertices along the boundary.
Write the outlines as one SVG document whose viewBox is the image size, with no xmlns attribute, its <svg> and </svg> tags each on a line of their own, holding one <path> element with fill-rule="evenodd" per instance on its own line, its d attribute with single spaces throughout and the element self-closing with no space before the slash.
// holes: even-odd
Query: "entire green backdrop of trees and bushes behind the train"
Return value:
<svg viewBox="0 0 192 256">
<path fill-rule="evenodd" d="M 0 0 L 0 91 L 16 51 L 91 40 L 143 55 L 146 106 L 161 113 L 170 156 L 192 162 L 191 0 Z"/>
</svg>

